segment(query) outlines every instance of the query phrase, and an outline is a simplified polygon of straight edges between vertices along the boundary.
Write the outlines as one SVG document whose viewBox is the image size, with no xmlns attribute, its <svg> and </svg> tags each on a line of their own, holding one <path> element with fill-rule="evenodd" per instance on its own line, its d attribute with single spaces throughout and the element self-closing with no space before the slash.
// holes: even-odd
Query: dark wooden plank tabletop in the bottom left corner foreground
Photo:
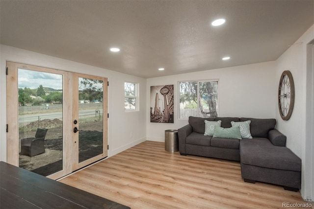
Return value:
<svg viewBox="0 0 314 209">
<path fill-rule="evenodd" d="M 0 189 L 0 209 L 130 209 L 4 162 Z"/>
</svg>

